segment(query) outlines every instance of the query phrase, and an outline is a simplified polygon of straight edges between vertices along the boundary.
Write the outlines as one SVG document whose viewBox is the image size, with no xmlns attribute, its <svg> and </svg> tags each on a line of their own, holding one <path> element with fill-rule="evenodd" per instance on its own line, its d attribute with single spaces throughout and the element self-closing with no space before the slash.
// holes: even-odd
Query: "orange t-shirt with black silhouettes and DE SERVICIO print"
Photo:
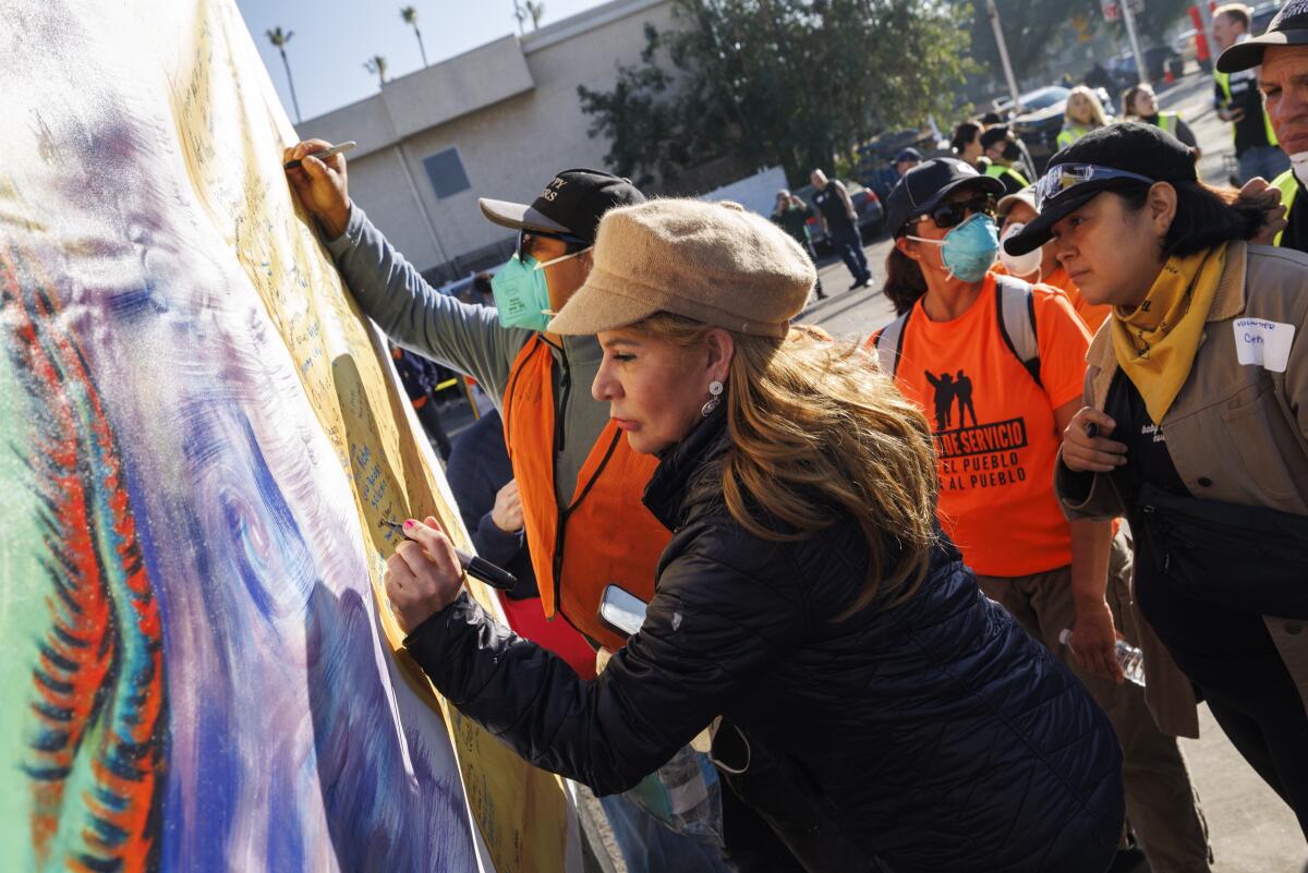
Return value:
<svg viewBox="0 0 1308 873">
<path fill-rule="evenodd" d="M 1054 497 L 1054 410 L 1082 396 L 1090 333 L 1062 291 L 1035 285 L 1032 294 L 1042 388 L 1003 341 L 993 274 L 952 321 L 933 321 L 918 301 L 896 370 L 935 434 L 940 524 L 984 576 L 1071 563 L 1071 528 Z"/>
</svg>

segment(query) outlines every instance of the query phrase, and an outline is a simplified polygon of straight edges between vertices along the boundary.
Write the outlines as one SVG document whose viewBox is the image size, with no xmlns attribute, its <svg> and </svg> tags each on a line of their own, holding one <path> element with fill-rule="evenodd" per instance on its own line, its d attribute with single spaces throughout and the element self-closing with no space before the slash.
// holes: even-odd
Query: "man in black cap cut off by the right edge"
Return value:
<svg viewBox="0 0 1308 873">
<path fill-rule="evenodd" d="M 1288 222 L 1273 244 L 1308 252 L 1308 214 L 1295 209 L 1303 180 L 1308 179 L 1308 0 L 1287 3 L 1262 37 L 1223 51 L 1216 68 L 1232 78 L 1258 72 L 1267 123 L 1291 163 L 1271 183 L 1281 192 Z"/>
</svg>

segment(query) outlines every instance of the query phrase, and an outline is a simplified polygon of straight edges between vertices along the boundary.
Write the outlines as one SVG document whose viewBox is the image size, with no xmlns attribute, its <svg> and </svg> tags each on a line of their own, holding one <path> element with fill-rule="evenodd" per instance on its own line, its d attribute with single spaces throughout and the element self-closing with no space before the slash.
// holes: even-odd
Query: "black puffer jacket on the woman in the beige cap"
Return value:
<svg viewBox="0 0 1308 873">
<path fill-rule="evenodd" d="M 675 535 L 641 631 L 593 682 L 467 595 L 408 651 L 532 763 L 627 789 L 717 715 L 791 755 L 850 839 L 900 873 L 1062 872 L 1121 827 L 1120 753 L 1076 680 L 978 591 L 952 546 L 909 601 L 837 622 L 869 559 L 853 520 L 768 542 L 721 499 L 723 416 L 659 465 Z"/>
</svg>

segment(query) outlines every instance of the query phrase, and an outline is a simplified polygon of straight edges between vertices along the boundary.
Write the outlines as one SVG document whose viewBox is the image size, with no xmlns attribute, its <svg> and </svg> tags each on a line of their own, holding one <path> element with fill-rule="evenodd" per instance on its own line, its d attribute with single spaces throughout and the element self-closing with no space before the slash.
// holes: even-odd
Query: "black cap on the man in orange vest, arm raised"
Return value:
<svg viewBox="0 0 1308 873">
<path fill-rule="evenodd" d="M 559 173 L 530 206 L 508 200 L 477 200 L 481 214 L 502 227 L 568 234 L 587 243 L 595 242 L 595 230 L 606 212 L 637 203 L 645 203 L 645 195 L 630 179 L 602 170 Z"/>
</svg>

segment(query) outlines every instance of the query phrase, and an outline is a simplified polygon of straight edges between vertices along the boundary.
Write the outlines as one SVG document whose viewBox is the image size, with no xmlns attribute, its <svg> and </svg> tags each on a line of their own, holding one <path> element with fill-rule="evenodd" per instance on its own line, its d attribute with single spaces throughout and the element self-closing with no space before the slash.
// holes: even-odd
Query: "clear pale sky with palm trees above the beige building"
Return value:
<svg viewBox="0 0 1308 873">
<path fill-rule="evenodd" d="M 540 26 L 602 1 L 543 0 Z M 237 5 L 292 120 L 296 111 L 286 71 L 266 33 L 272 27 L 294 33 L 286 43 L 286 59 L 296 77 L 300 112 L 306 119 L 377 93 L 377 76 L 364 69 L 364 61 L 373 55 L 386 58 L 387 78 L 422 65 L 413 29 L 400 18 L 402 7 L 417 9 L 430 64 L 518 33 L 513 0 L 237 0 Z"/>
</svg>

